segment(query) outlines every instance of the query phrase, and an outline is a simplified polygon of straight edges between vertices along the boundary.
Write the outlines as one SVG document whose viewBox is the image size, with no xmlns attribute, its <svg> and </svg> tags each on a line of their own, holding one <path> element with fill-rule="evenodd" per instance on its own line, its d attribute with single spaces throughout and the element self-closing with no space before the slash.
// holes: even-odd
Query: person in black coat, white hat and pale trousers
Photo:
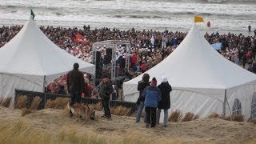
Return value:
<svg viewBox="0 0 256 144">
<path fill-rule="evenodd" d="M 170 109 L 170 91 L 172 90 L 166 76 L 161 78 L 161 84 L 158 85 L 158 88 L 161 90 L 162 100 L 158 103 L 157 123 L 159 124 L 161 110 L 164 110 L 163 124 L 166 127 L 168 124 L 168 110 Z"/>
</svg>

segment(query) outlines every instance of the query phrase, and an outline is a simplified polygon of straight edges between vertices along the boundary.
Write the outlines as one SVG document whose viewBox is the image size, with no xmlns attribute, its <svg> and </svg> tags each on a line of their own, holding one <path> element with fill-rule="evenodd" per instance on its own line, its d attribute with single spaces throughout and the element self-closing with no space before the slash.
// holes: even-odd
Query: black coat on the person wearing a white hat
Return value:
<svg viewBox="0 0 256 144">
<path fill-rule="evenodd" d="M 162 100 L 158 103 L 158 109 L 170 109 L 170 91 L 172 90 L 170 84 L 168 82 L 162 82 L 158 85 L 158 88 L 162 94 Z"/>
</svg>

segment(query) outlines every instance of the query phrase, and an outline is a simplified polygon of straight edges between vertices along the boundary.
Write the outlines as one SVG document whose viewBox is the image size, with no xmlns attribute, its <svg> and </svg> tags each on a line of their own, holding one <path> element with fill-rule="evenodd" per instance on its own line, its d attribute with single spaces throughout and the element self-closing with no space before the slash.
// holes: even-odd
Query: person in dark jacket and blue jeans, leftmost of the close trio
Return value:
<svg viewBox="0 0 256 144">
<path fill-rule="evenodd" d="M 146 86 L 150 86 L 150 75 L 149 74 L 143 74 L 142 76 L 142 81 L 138 82 L 138 91 L 139 91 L 139 96 L 137 100 L 137 106 L 138 106 L 138 111 L 136 114 L 136 122 L 139 122 L 142 116 L 142 110 L 144 108 L 144 100 L 145 98 L 142 97 L 142 91 L 145 89 Z M 146 115 L 144 116 L 144 122 L 146 122 Z"/>
</svg>

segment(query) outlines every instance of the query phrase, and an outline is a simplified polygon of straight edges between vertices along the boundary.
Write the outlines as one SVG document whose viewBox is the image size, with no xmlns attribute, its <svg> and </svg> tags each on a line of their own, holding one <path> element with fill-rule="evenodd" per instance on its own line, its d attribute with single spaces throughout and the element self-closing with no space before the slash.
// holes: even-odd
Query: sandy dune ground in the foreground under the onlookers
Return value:
<svg viewBox="0 0 256 144">
<path fill-rule="evenodd" d="M 135 123 L 134 117 L 113 115 L 113 118 L 109 120 L 101 118 L 101 115 L 101 111 L 96 111 L 95 121 L 78 122 L 77 119 L 68 117 L 67 110 L 38 110 L 22 117 L 22 110 L 0 106 L 0 139 L 2 139 L 0 143 L 8 139 L 5 138 L 5 126 L 14 129 L 12 126 L 21 125 L 21 123 L 30 131 L 36 130 L 41 131 L 42 134 L 50 134 L 50 142 L 65 131 L 103 138 L 103 143 L 123 143 L 123 139 L 127 138 L 130 138 L 132 143 L 256 142 L 256 125 L 250 122 L 229 122 L 218 118 L 205 118 L 191 122 L 170 122 L 167 128 L 162 127 L 161 124 L 155 128 L 146 128 L 142 122 Z"/>
</svg>

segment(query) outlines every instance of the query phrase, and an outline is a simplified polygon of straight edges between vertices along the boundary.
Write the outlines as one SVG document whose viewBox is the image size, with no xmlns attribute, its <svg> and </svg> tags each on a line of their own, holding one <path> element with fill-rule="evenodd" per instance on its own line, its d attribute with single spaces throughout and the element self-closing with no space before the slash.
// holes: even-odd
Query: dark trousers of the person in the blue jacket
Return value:
<svg viewBox="0 0 256 144">
<path fill-rule="evenodd" d="M 149 123 L 151 126 L 155 126 L 157 121 L 157 108 L 156 107 L 147 107 L 145 106 L 146 112 L 146 123 Z"/>
</svg>

